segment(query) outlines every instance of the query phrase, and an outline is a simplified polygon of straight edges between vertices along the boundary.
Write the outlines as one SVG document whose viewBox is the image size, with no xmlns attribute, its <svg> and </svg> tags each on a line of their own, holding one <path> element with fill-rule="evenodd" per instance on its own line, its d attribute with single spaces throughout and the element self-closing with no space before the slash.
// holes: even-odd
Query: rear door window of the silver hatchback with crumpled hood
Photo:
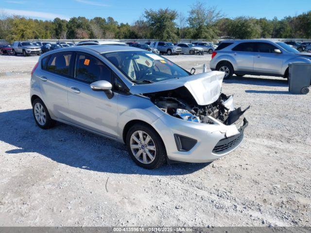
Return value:
<svg viewBox="0 0 311 233">
<path fill-rule="evenodd" d="M 54 53 L 50 56 L 46 70 L 61 75 L 70 75 L 71 52 Z"/>
</svg>

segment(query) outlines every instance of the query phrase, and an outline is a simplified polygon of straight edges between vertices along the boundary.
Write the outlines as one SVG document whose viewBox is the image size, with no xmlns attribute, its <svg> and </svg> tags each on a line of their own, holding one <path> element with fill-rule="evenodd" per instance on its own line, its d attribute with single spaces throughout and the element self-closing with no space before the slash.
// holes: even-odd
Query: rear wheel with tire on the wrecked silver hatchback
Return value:
<svg viewBox="0 0 311 233">
<path fill-rule="evenodd" d="M 47 107 L 40 99 L 35 99 L 33 102 L 33 115 L 35 118 L 35 123 L 41 129 L 50 129 L 55 124 L 55 121 L 51 118 Z"/>
</svg>

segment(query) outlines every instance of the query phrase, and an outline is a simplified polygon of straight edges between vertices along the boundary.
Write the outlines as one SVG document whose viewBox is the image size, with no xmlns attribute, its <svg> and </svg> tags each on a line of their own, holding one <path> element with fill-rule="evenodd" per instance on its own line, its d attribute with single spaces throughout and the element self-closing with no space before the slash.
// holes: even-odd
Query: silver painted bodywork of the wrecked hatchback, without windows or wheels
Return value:
<svg viewBox="0 0 311 233">
<path fill-rule="evenodd" d="M 220 94 L 222 72 L 210 72 L 193 75 L 164 83 L 134 85 L 118 68 L 114 67 L 101 53 L 112 51 L 140 50 L 123 46 L 81 46 L 49 51 L 42 58 L 63 51 L 83 51 L 95 56 L 110 67 L 117 76 L 131 89 L 133 93 L 150 92 L 152 88 L 164 90 L 184 85 L 193 93 L 200 103 L 212 102 Z M 173 82 L 170 84 L 170 82 Z M 175 83 L 176 82 L 176 83 Z M 201 87 L 202 85 L 202 87 Z M 70 87 L 79 87 L 80 93 L 73 92 Z M 200 86 L 200 87 L 199 87 Z M 197 90 L 198 88 L 198 90 Z M 155 91 L 155 89 L 153 89 Z M 205 94 L 207 91 L 209 93 Z M 108 100 L 104 92 L 92 91 L 90 86 L 71 79 L 70 77 L 51 74 L 39 65 L 31 78 L 30 97 L 39 97 L 46 105 L 52 119 L 108 137 L 124 143 L 123 130 L 133 120 L 140 120 L 151 125 L 161 136 L 167 156 L 171 160 L 182 162 L 209 162 L 218 159 L 239 147 L 242 140 L 224 153 L 213 153 L 216 144 L 226 137 L 239 134 L 235 124 L 225 125 L 217 119 L 213 124 L 190 122 L 171 116 L 150 100 L 138 94 L 122 94 L 114 92 L 114 97 Z M 207 100 L 207 98 L 211 100 Z M 212 100 L 213 99 L 213 100 Z M 232 97 L 226 101 L 226 106 L 233 109 Z M 174 134 L 185 135 L 197 140 L 197 144 L 189 151 L 178 151 Z"/>
</svg>

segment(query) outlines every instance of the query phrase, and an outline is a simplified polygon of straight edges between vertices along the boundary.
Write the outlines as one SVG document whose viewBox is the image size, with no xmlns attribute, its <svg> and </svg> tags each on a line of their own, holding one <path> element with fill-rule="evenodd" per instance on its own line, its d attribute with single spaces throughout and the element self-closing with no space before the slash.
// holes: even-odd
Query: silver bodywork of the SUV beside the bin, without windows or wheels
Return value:
<svg viewBox="0 0 311 233">
<path fill-rule="evenodd" d="M 269 40 L 237 40 L 228 41 L 231 45 L 222 50 L 211 59 L 209 66 L 215 70 L 220 62 L 231 63 L 236 73 L 281 76 L 285 75 L 289 63 L 311 63 L 311 57 L 306 53 L 292 53 Z M 275 46 L 281 53 L 233 51 L 232 49 L 244 42 L 261 42 Z"/>
</svg>

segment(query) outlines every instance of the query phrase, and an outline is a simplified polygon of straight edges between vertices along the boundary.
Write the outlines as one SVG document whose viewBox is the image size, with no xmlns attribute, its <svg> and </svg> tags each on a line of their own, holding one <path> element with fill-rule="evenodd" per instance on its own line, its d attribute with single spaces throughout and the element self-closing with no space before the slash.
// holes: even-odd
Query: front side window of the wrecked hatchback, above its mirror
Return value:
<svg viewBox="0 0 311 233">
<path fill-rule="evenodd" d="M 111 70 L 92 56 L 77 54 L 75 78 L 86 83 L 99 80 L 106 80 L 111 83 Z"/>
</svg>

